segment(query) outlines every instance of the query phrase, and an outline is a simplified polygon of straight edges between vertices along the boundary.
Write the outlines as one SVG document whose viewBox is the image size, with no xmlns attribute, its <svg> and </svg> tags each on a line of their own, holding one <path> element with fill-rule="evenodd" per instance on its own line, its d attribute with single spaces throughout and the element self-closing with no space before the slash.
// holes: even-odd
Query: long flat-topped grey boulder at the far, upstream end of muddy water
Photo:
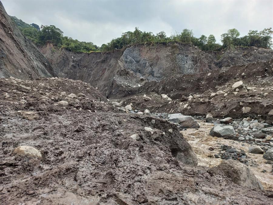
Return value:
<svg viewBox="0 0 273 205">
<path fill-rule="evenodd" d="M 169 114 L 169 121 L 178 123 L 184 128 L 199 128 L 198 122 L 191 116 L 182 115 L 181 113 Z"/>
</svg>

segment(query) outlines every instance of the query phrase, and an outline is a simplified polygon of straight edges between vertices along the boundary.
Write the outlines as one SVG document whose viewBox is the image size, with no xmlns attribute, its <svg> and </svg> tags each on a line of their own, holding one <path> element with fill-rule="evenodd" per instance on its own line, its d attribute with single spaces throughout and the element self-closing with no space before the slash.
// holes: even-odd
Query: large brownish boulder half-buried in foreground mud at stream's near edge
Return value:
<svg viewBox="0 0 273 205">
<path fill-rule="evenodd" d="M 222 170 L 235 184 L 251 189 L 263 189 L 263 186 L 252 171 L 237 160 L 228 159 L 222 162 L 217 169 Z"/>
</svg>

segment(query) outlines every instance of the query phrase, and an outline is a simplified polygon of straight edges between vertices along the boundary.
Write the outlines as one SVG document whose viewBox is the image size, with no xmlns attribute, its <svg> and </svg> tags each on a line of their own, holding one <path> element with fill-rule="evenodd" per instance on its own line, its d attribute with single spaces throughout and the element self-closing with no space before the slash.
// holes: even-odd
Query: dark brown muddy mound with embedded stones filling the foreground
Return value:
<svg viewBox="0 0 273 205">
<path fill-rule="evenodd" d="M 81 81 L 19 81 L 0 81 L 2 204 L 273 202 L 269 192 L 196 167 L 190 145 L 168 121 L 115 113 Z M 42 159 L 15 154 L 21 145 Z"/>
</svg>

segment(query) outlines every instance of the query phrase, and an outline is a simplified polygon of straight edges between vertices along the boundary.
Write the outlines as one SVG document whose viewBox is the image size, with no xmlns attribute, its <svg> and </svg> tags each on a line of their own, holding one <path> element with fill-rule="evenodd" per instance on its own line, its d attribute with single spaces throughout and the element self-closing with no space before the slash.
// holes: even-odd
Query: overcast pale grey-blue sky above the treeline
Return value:
<svg viewBox="0 0 273 205">
<path fill-rule="evenodd" d="M 221 34 L 236 28 L 241 36 L 249 30 L 273 27 L 273 0 L 188 1 L 80 1 L 2 0 L 8 15 L 26 23 L 55 25 L 64 36 L 97 46 L 120 37 L 123 32 L 141 31 L 167 36 L 192 29 L 196 37 Z"/>
</svg>

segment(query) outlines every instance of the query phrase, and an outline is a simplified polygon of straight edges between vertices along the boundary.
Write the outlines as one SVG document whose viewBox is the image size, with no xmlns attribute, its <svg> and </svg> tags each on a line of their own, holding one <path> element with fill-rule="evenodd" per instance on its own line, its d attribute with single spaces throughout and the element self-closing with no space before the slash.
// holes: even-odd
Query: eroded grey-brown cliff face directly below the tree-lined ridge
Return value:
<svg viewBox="0 0 273 205">
<path fill-rule="evenodd" d="M 58 76 L 89 82 L 108 97 L 120 87 L 217 69 L 213 56 L 187 44 L 136 45 L 113 53 L 86 54 L 56 50 L 49 43 L 40 51 Z"/>
</svg>

